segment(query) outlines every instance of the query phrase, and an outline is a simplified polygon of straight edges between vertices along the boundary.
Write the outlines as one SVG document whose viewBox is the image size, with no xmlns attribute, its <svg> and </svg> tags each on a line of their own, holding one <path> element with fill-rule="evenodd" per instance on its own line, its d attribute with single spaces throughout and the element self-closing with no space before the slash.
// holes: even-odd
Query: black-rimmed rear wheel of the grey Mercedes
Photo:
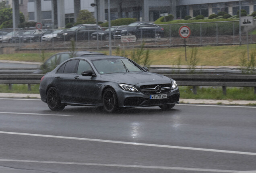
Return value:
<svg viewBox="0 0 256 173">
<path fill-rule="evenodd" d="M 52 111 L 61 111 L 65 107 L 65 105 L 61 103 L 60 95 L 55 87 L 48 89 L 46 94 L 46 101 L 48 107 Z"/>
</svg>

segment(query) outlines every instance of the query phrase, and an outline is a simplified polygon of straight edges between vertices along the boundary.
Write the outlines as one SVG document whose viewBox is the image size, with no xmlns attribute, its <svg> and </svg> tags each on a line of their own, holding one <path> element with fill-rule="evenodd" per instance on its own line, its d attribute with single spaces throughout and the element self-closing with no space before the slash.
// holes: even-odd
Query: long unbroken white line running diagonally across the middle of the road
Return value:
<svg viewBox="0 0 256 173">
<path fill-rule="evenodd" d="M 204 149 L 204 148 L 194 148 L 194 147 L 180 147 L 173 145 L 159 145 L 159 144 L 148 144 L 148 143 L 133 143 L 133 142 L 124 142 L 124 141 L 111 141 L 104 139 L 90 139 L 90 138 L 78 138 L 78 137 L 64 137 L 64 136 L 54 136 L 54 135 L 40 135 L 40 134 L 31 134 L 31 133 L 17 133 L 17 132 L 5 132 L 0 131 L 2 134 L 12 134 L 12 135 L 26 135 L 26 136 L 35 136 L 35 137 L 50 137 L 58 139 L 73 139 L 80 141 L 94 141 L 94 142 L 105 142 L 105 143 L 118 143 L 118 144 L 127 144 L 127 145 L 139 145 L 147 147 L 163 147 L 163 148 L 172 148 L 172 149 L 187 149 L 187 150 L 196 150 L 196 151 L 209 151 L 217 153 L 230 153 L 230 154 L 242 154 L 242 155 L 256 155 L 256 153 L 242 152 L 242 151 L 229 151 L 229 150 L 218 150 L 218 149 Z"/>
</svg>

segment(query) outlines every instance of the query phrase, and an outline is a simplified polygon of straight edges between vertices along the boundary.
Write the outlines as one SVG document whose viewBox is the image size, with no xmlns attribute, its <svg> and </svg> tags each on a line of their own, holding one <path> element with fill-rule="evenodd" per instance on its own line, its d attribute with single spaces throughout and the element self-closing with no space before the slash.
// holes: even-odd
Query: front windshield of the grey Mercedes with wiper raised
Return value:
<svg viewBox="0 0 256 173">
<path fill-rule="evenodd" d="M 93 65 L 99 74 L 144 71 L 127 58 L 93 60 Z"/>
</svg>

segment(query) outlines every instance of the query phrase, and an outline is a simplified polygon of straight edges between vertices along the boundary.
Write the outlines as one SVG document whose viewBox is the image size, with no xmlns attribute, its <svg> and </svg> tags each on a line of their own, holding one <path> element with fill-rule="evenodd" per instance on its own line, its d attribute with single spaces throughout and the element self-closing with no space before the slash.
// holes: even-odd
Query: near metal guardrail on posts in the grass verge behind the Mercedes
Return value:
<svg viewBox="0 0 256 173">
<path fill-rule="evenodd" d="M 254 87 L 256 94 L 256 75 L 218 75 L 218 74 L 164 74 L 173 78 L 180 86 L 193 86 L 196 94 L 196 86 L 219 86 L 226 94 L 226 87 Z M 43 74 L 0 74 L 0 84 L 39 84 Z"/>
</svg>

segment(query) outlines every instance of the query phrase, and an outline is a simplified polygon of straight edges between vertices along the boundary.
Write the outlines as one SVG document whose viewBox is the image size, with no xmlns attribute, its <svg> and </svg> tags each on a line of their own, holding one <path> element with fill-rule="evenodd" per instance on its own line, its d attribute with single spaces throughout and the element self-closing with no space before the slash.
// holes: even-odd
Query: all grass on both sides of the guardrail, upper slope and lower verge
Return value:
<svg viewBox="0 0 256 173">
<path fill-rule="evenodd" d="M 250 52 L 255 50 L 256 45 L 250 45 Z M 192 48 L 187 48 L 187 57 L 190 57 Z M 203 66 L 239 66 L 242 54 L 247 51 L 246 45 L 242 46 L 205 46 L 197 48 L 197 65 Z M 101 51 L 108 54 L 107 50 Z M 126 50 L 128 57 L 132 50 Z M 45 57 L 49 57 L 55 52 L 45 53 Z M 112 51 L 115 54 L 115 50 Z M 181 62 L 178 61 L 181 56 Z M 47 59 L 47 58 L 46 58 Z M 150 49 L 150 59 L 153 65 L 188 65 L 184 58 L 184 48 L 160 48 Z M 29 62 L 41 62 L 39 53 L 17 53 L 2 54 L 0 60 L 18 60 Z M 26 85 L 13 85 L 12 91 L 8 90 L 8 86 L 0 85 L 1 93 L 39 93 L 38 85 L 32 85 L 32 91 L 27 91 Z M 181 98 L 184 99 L 230 99 L 230 100 L 256 100 L 253 88 L 233 88 L 227 87 L 227 95 L 222 94 L 221 87 L 198 87 L 197 95 L 193 94 L 192 87 L 180 86 Z"/>
</svg>

